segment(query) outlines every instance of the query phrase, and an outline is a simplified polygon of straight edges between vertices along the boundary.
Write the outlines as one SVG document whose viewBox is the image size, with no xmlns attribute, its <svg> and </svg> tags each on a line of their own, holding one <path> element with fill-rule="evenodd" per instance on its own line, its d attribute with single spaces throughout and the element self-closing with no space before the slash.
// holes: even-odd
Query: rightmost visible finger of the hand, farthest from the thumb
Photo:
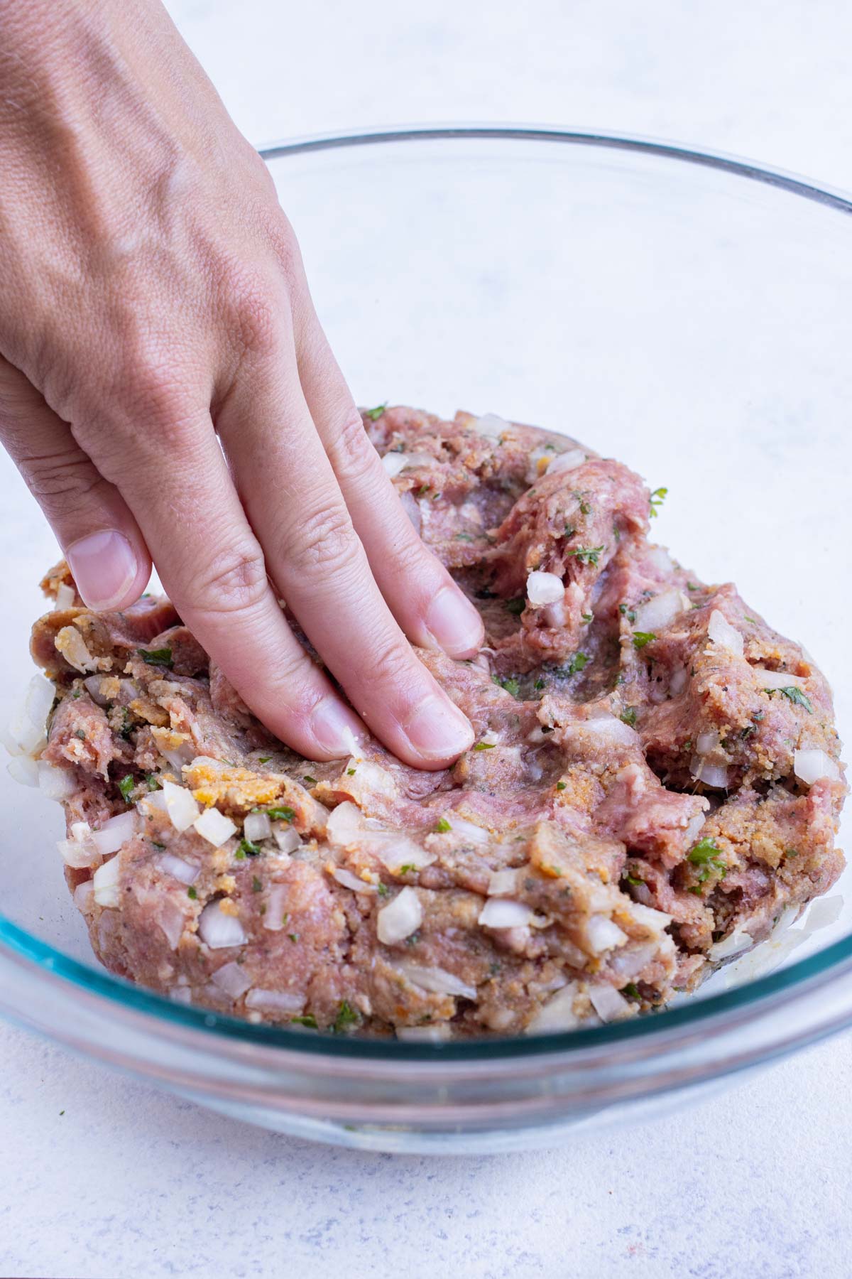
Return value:
<svg viewBox="0 0 852 1279">
<path fill-rule="evenodd" d="M 451 657 L 483 642 L 478 610 L 420 541 L 405 514 L 308 302 L 300 316 L 299 373 L 305 400 L 378 587 L 410 638 Z"/>
</svg>

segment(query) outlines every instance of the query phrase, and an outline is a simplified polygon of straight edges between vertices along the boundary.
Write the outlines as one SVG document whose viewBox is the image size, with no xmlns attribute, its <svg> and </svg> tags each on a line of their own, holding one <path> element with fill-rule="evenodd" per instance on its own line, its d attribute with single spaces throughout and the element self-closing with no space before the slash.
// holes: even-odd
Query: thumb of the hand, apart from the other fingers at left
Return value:
<svg viewBox="0 0 852 1279">
<path fill-rule="evenodd" d="M 91 609 L 124 609 L 151 577 L 126 503 L 24 375 L 0 358 L 0 436 L 47 517 Z"/>
</svg>

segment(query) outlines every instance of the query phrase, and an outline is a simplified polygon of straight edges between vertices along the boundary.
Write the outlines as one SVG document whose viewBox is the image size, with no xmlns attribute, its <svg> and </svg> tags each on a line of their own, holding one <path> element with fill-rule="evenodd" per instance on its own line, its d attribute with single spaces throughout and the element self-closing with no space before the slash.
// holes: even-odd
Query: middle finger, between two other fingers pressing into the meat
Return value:
<svg viewBox="0 0 852 1279">
<path fill-rule="evenodd" d="M 407 764 L 436 769 L 456 758 L 473 730 L 376 585 L 293 352 L 247 371 L 217 426 L 270 574 L 355 709 Z"/>
</svg>

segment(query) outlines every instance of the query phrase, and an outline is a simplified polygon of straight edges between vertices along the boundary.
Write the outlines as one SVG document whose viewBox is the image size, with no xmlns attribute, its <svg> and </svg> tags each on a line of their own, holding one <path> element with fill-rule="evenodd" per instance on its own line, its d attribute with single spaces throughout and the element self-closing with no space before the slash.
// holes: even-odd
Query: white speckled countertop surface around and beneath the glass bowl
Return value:
<svg viewBox="0 0 852 1279">
<path fill-rule="evenodd" d="M 841 0 L 171 0 L 255 142 L 407 120 L 666 136 L 852 188 Z M 851 1040 L 623 1134 L 359 1155 L 216 1118 L 0 1024 L 0 1274 L 844 1276 Z"/>
</svg>

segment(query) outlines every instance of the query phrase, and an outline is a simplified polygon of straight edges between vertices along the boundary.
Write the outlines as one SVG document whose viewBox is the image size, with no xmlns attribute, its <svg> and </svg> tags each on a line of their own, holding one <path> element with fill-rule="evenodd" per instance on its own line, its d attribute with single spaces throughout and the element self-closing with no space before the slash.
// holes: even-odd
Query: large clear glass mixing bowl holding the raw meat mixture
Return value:
<svg viewBox="0 0 852 1279">
<path fill-rule="evenodd" d="M 847 197 L 722 156 L 556 129 L 405 129 L 264 155 L 360 403 L 565 428 L 666 485 L 660 542 L 706 581 L 736 581 L 806 643 L 843 732 Z M 8 718 L 56 547 L 11 464 L 0 468 Z M 0 1007 L 270 1128 L 379 1150 L 552 1145 L 852 1022 L 843 883 L 809 912 L 815 931 L 797 925 L 681 1007 L 627 1023 L 428 1045 L 235 1022 L 96 967 L 55 852 L 57 806 L 5 771 L 0 798 Z"/>
</svg>

